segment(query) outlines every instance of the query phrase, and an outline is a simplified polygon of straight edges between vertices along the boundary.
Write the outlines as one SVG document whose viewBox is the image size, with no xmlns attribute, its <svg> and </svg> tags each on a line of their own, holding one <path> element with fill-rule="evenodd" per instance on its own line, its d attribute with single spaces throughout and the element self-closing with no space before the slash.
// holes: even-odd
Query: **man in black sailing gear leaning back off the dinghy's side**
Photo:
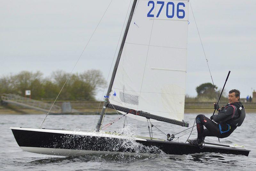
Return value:
<svg viewBox="0 0 256 171">
<path fill-rule="evenodd" d="M 241 126 L 245 118 L 245 109 L 240 102 L 240 91 L 232 89 L 228 92 L 228 104 L 220 107 L 214 103 L 214 109 L 219 112 L 207 118 L 203 114 L 196 116 L 197 138 L 187 140 L 190 144 L 202 146 L 205 136 L 228 137 L 236 127 Z M 213 122 L 214 120 L 215 122 Z M 204 129 L 204 126 L 206 127 Z"/>
</svg>

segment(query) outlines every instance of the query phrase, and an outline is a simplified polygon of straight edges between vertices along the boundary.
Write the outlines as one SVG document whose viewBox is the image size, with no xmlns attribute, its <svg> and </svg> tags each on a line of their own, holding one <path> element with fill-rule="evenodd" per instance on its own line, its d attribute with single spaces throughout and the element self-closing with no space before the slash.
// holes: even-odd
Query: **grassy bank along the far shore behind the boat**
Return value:
<svg viewBox="0 0 256 171">
<path fill-rule="evenodd" d="M 52 101 L 46 101 L 52 104 Z M 61 106 L 64 101 L 58 101 L 55 104 Z M 66 102 L 66 101 L 65 101 Z M 103 102 L 98 101 L 71 101 L 72 109 L 77 112 L 75 114 L 95 114 L 100 112 Z M 256 103 L 244 103 L 247 113 L 256 113 Z M 99 109 L 99 111 L 98 111 Z M 185 102 L 185 113 L 213 113 L 212 102 Z M 113 109 L 107 110 L 108 114 L 116 113 Z M 5 104 L 0 105 L 0 114 L 45 114 L 41 111 L 28 109 L 16 105 Z"/>
</svg>

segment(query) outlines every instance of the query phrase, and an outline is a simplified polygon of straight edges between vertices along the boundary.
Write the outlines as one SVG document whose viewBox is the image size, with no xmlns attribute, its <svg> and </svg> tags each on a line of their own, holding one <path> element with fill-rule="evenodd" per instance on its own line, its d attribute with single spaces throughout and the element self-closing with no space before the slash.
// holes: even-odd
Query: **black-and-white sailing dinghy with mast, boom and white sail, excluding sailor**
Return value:
<svg viewBox="0 0 256 171">
<path fill-rule="evenodd" d="M 165 140 L 152 136 L 128 138 L 101 130 L 107 108 L 142 121 L 188 127 L 183 120 L 187 37 L 188 1 L 134 0 L 96 131 L 11 127 L 20 148 L 61 156 L 132 155 L 136 150 L 123 144 L 138 143 L 166 154 L 215 152 L 248 156 L 250 150 L 244 147 L 205 143 L 204 148 L 199 148 L 172 141 L 170 136 Z"/>
</svg>

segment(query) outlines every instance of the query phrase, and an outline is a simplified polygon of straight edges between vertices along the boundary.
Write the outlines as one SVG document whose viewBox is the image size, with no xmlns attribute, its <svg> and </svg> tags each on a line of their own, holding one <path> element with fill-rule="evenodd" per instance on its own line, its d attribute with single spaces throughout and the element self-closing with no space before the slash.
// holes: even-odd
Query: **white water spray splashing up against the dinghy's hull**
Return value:
<svg viewBox="0 0 256 171">
<path fill-rule="evenodd" d="M 110 159 L 113 161 L 131 162 L 138 159 L 165 158 L 166 154 L 156 146 L 145 146 L 136 140 L 136 125 L 128 124 L 115 133 L 87 132 L 79 128 L 70 134 L 55 134 L 51 143 L 45 142 L 46 148 L 51 148 L 53 155 L 92 155 L 93 160 Z M 84 135 L 83 135 L 84 134 Z M 63 149 L 58 151 L 58 149 Z M 68 151 L 69 150 L 69 151 Z M 68 153 L 68 154 L 67 154 Z M 96 157 L 95 157 L 96 156 Z"/>
</svg>

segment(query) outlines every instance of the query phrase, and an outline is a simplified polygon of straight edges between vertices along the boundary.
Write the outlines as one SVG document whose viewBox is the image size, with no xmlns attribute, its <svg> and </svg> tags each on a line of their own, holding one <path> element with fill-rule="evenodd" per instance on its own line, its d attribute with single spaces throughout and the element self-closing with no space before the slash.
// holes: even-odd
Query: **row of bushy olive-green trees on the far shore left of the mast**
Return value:
<svg viewBox="0 0 256 171">
<path fill-rule="evenodd" d="M 0 78 L 0 94 L 13 93 L 25 96 L 25 90 L 31 90 L 31 98 L 36 100 L 53 100 L 62 89 L 58 100 L 95 100 L 97 90 L 106 85 L 100 70 L 87 70 L 84 73 L 71 74 L 54 71 L 50 77 L 43 77 L 40 71 L 21 71 Z"/>
</svg>

